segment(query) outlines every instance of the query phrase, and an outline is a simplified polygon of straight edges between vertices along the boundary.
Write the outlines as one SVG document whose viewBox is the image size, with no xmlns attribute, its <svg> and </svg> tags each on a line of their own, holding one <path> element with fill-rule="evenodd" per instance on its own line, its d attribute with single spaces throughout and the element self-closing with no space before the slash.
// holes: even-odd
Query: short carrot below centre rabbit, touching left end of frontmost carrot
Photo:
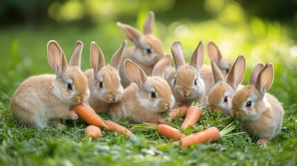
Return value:
<svg viewBox="0 0 297 166">
<path fill-rule="evenodd" d="M 166 124 L 160 124 L 156 131 L 158 131 L 158 133 L 162 134 L 166 138 L 172 140 L 180 140 L 184 136 L 183 133 L 179 132 L 178 129 L 170 127 Z"/>
</svg>

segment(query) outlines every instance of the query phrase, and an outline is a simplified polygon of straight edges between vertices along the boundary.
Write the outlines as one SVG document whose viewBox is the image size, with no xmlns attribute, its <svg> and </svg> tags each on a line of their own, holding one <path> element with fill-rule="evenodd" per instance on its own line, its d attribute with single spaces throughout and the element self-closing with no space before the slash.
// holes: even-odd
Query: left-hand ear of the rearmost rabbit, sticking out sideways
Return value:
<svg viewBox="0 0 297 166">
<path fill-rule="evenodd" d="M 131 40 L 131 42 L 133 42 L 135 45 L 138 45 L 139 38 L 142 36 L 142 33 L 138 29 L 120 22 L 117 22 L 116 25 L 123 29 L 124 33 L 128 39 Z"/>
</svg>

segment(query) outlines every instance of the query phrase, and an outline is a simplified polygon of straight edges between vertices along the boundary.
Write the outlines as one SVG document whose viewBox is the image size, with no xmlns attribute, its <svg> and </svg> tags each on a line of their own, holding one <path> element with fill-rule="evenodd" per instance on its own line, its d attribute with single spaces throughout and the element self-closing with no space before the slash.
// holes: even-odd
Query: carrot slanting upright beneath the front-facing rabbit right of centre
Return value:
<svg viewBox="0 0 297 166">
<path fill-rule="evenodd" d="M 191 106 L 189 107 L 187 114 L 186 114 L 186 118 L 185 120 L 183 120 L 183 124 L 181 124 L 181 129 L 186 129 L 188 126 L 194 126 L 200 116 L 201 116 L 201 109 L 197 106 Z"/>
</svg>

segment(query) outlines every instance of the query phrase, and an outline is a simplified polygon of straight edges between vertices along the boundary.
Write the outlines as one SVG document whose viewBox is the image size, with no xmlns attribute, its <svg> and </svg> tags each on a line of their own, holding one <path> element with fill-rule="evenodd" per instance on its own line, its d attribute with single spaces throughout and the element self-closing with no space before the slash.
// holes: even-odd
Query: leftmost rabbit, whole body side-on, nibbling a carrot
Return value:
<svg viewBox="0 0 297 166">
<path fill-rule="evenodd" d="M 87 102 L 88 79 L 80 70 L 83 44 L 78 41 L 69 62 L 60 45 L 51 40 L 47 45 L 48 62 L 55 75 L 29 77 L 21 83 L 11 100 L 12 116 L 26 127 L 48 127 L 51 121 L 63 129 L 60 119 L 78 119 L 73 105 Z"/>
</svg>

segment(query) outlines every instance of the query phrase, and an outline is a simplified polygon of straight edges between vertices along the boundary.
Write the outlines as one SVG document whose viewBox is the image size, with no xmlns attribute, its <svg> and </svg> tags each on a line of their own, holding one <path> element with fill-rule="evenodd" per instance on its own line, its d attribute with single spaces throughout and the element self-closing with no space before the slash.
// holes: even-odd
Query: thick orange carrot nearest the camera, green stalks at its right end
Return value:
<svg viewBox="0 0 297 166">
<path fill-rule="evenodd" d="M 181 139 L 181 146 L 186 148 L 192 144 L 199 144 L 204 142 L 214 142 L 219 140 L 219 129 L 217 127 L 209 127 L 208 129 L 192 133 Z"/>
</svg>

